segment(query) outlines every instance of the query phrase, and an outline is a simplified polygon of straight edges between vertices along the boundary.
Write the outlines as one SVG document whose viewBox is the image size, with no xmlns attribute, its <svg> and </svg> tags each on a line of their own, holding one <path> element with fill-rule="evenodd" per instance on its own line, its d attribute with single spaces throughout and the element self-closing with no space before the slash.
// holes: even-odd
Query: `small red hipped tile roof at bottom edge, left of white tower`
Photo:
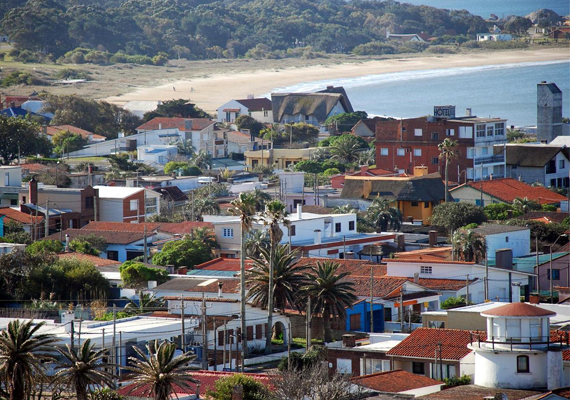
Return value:
<svg viewBox="0 0 570 400">
<path fill-rule="evenodd" d="M 357 376 L 352 378 L 352 382 L 372 390 L 389 393 L 400 393 L 426 386 L 444 385 L 443 382 L 427 376 L 412 374 L 401 369 Z"/>
</svg>

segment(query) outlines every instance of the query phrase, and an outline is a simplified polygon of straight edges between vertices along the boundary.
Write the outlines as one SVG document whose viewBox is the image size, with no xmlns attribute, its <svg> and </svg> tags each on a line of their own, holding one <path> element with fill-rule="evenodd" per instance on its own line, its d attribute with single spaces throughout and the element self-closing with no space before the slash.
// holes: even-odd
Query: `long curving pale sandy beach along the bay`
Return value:
<svg viewBox="0 0 570 400">
<path fill-rule="evenodd" d="M 139 87 L 120 96 L 107 97 L 105 100 L 121 105 L 133 100 L 164 101 L 186 98 L 192 100 L 204 110 L 212 112 L 231 99 L 246 98 L 250 94 L 261 96 L 275 88 L 303 82 L 354 78 L 402 71 L 555 60 L 570 60 L 570 49 L 550 48 L 452 55 L 421 55 L 419 57 L 347 62 L 336 65 L 313 65 L 298 68 L 220 73 L 200 78 L 173 80 L 153 87 Z"/>
</svg>

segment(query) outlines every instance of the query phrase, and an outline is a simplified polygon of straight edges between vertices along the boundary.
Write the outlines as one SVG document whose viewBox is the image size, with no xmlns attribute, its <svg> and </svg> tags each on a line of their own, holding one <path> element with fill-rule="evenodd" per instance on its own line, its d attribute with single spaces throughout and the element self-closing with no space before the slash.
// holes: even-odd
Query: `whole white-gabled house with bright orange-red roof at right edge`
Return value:
<svg viewBox="0 0 570 400">
<path fill-rule="evenodd" d="M 456 201 L 466 201 L 485 206 L 491 203 L 512 203 L 517 197 L 526 197 L 539 204 L 559 204 L 567 200 L 542 186 L 531 186 L 516 179 L 491 179 L 467 182 L 449 191 Z"/>
</svg>

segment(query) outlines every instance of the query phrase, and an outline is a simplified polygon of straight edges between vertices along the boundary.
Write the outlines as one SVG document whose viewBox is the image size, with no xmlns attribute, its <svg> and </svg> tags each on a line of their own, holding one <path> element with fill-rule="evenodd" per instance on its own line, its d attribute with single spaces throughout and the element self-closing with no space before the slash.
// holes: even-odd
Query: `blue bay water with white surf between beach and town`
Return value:
<svg viewBox="0 0 570 400">
<path fill-rule="evenodd" d="M 437 105 L 471 108 L 479 117 L 506 118 L 509 125 L 536 125 L 536 85 L 554 82 L 570 117 L 570 61 L 447 68 L 306 82 L 274 92 L 314 92 L 344 86 L 355 110 L 370 115 L 412 118 L 433 114 Z"/>
</svg>

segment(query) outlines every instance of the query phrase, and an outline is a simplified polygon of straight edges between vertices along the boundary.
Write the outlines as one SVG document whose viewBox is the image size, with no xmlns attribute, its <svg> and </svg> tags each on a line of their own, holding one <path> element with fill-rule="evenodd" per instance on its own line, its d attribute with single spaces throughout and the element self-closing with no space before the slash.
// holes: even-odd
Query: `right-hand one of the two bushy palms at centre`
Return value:
<svg viewBox="0 0 570 400">
<path fill-rule="evenodd" d="M 332 341 L 331 316 L 346 318 L 346 308 L 357 300 L 354 283 L 345 279 L 350 272 L 337 274 L 340 267 L 333 261 L 317 261 L 311 266 L 307 294 L 311 297 L 313 313 L 323 316 L 325 342 Z"/>
</svg>

